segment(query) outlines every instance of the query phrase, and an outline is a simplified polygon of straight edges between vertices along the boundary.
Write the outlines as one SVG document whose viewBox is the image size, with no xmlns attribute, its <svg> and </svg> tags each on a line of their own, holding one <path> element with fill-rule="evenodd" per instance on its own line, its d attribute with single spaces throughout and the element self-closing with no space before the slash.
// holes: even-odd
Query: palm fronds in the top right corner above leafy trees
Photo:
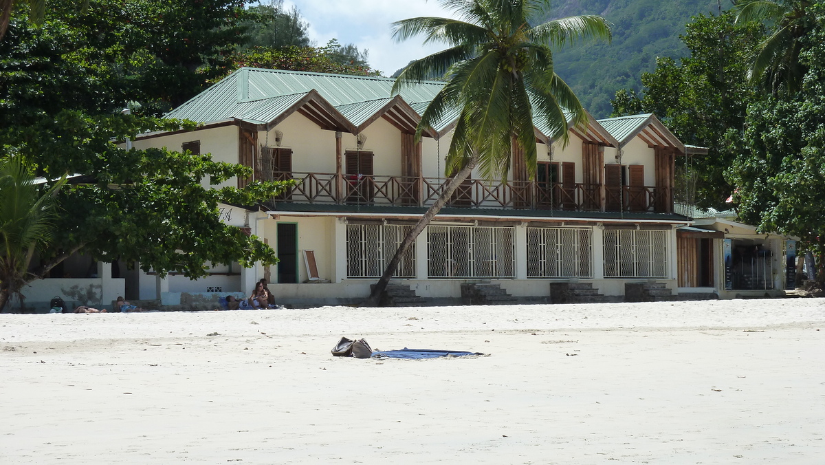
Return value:
<svg viewBox="0 0 825 465">
<path fill-rule="evenodd" d="M 772 28 L 770 36 L 750 56 L 747 78 L 772 93 L 792 94 L 802 85 L 805 67 L 799 63 L 801 39 L 813 29 L 815 18 L 808 0 L 740 0 L 737 22 L 758 21 Z"/>
</svg>

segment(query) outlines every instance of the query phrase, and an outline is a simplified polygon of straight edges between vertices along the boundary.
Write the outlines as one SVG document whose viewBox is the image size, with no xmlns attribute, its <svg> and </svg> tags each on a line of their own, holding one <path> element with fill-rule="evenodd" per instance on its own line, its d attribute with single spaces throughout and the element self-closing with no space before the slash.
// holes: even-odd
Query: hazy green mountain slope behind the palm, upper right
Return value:
<svg viewBox="0 0 825 465">
<path fill-rule="evenodd" d="M 679 35 L 691 16 L 710 12 L 719 12 L 717 0 L 558 0 L 550 17 L 537 19 L 596 14 L 613 25 L 612 43 L 579 43 L 553 55 L 556 73 L 601 118 L 612 111 L 615 91 L 641 88 L 642 73 L 655 69 L 657 57 L 687 55 Z"/>
</svg>

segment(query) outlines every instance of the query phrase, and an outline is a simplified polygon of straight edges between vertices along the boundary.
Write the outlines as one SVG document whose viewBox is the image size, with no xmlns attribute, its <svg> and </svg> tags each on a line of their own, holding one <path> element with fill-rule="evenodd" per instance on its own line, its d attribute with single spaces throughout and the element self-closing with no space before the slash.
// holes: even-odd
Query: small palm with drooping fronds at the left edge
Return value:
<svg viewBox="0 0 825 465">
<path fill-rule="evenodd" d="M 54 196 L 59 179 L 41 192 L 40 183 L 20 157 L 0 161 L 0 311 L 9 297 L 35 279 L 29 265 L 35 250 L 49 243 L 54 228 Z"/>
</svg>

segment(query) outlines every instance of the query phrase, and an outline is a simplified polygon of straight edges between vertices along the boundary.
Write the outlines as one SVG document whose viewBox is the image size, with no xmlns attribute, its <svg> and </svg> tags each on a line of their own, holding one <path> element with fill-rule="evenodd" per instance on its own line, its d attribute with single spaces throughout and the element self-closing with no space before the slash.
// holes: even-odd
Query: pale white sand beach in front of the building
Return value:
<svg viewBox="0 0 825 465">
<path fill-rule="evenodd" d="M 825 457 L 823 299 L 0 315 L 0 373 L 3 465 Z"/>
</svg>

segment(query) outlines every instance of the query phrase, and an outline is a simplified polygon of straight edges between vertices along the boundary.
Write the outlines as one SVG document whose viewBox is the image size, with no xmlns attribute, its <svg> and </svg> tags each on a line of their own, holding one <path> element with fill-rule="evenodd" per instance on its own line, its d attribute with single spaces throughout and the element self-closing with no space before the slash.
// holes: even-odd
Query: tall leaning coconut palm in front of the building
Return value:
<svg viewBox="0 0 825 465">
<path fill-rule="evenodd" d="M 446 174 L 455 176 L 398 247 L 373 287 L 370 305 L 378 303 L 403 254 L 474 168 L 484 178 L 507 179 L 516 140 L 530 176 L 535 173 L 534 118 L 543 119 L 552 128 L 550 136 L 565 144 L 571 125 L 587 125 L 582 104 L 554 73 L 551 46 L 588 38 L 610 40 L 610 26 L 597 16 L 531 25 L 531 17 L 549 9 L 549 0 L 441 0 L 441 5 L 460 19 L 416 17 L 394 23 L 396 40 L 423 35 L 425 43 L 442 42 L 449 48 L 410 64 L 396 79 L 393 92 L 425 78 L 446 77 L 446 85 L 424 111 L 416 136 L 420 139 L 423 130 L 458 112 L 446 163 Z"/>
</svg>

